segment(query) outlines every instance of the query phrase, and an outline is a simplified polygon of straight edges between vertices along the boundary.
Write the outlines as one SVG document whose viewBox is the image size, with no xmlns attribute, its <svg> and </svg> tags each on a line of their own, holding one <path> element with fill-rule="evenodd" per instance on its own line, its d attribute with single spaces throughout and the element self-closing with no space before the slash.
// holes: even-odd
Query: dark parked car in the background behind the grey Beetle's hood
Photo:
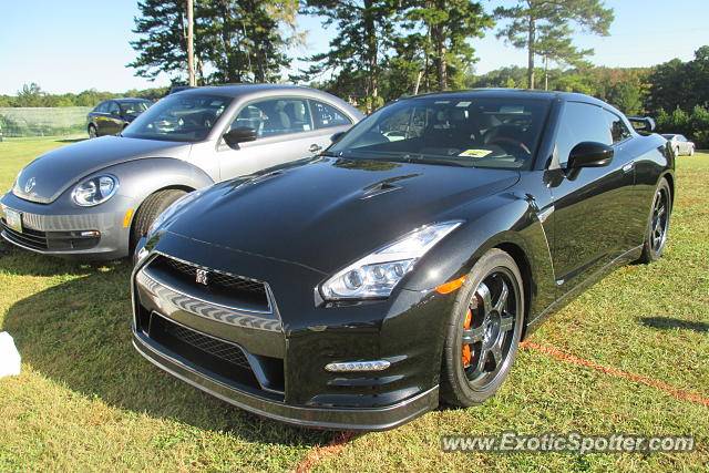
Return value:
<svg viewBox="0 0 709 473">
<path fill-rule="evenodd" d="M 89 137 L 117 135 L 152 104 L 153 102 L 145 99 L 104 100 L 86 116 Z"/>
</svg>

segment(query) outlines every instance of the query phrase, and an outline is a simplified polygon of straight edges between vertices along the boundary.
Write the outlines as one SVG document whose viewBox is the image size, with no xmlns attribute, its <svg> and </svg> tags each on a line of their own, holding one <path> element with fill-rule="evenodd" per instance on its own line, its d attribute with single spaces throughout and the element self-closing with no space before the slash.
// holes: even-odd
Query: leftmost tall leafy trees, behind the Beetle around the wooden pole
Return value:
<svg viewBox="0 0 709 473">
<path fill-rule="evenodd" d="M 187 63 L 186 2 L 142 0 L 131 45 L 138 53 L 129 64 L 136 75 L 154 80 L 161 72 L 184 81 Z M 194 51 L 197 81 L 266 82 L 289 64 L 285 49 L 295 32 L 297 0 L 201 0 L 195 2 Z M 286 35 L 284 30 L 290 30 Z M 213 72 L 210 72 L 213 71 Z M 209 73 L 210 72 L 210 73 Z"/>
</svg>

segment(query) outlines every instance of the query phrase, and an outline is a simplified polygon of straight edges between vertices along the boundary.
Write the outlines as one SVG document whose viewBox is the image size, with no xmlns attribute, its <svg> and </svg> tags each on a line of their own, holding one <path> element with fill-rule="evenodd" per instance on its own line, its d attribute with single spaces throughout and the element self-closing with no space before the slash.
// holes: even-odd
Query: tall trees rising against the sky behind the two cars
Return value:
<svg viewBox="0 0 709 473">
<path fill-rule="evenodd" d="M 186 2 L 142 0 L 131 44 L 136 74 L 186 73 Z M 197 81 L 296 83 L 327 78 L 338 94 L 366 111 L 418 92 L 462 88 L 476 62 L 474 39 L 495 31 L 528 55 L 526 86 L 535 84 L 535 60 L 579 65 L 593 54 L 572 42 L 574 29 L 607 35 L 613 10 L 602 0 L 517 0 L 485 10 L 470 0 L 198 0 L 194 12 Z M 305 44 L 297 14 L 314 16 L 333 30 L 325 52 L 299 58 L 308 68 L 284 76 Z"/>
</svg>

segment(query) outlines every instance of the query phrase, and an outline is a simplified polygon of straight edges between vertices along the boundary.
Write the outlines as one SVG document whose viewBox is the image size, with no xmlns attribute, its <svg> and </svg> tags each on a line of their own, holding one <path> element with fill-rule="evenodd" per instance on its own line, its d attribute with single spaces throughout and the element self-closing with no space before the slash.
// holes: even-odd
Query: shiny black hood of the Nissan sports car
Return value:
<svg viewBox="0 0 709 473">
<path fill-rule="evenodd" d="M 318 158 L 216 184 L 163 229 L 330 274 L 421 225 L 460 218 L 456 207 L 518 178 L 517 171 Z"/>
</svg>

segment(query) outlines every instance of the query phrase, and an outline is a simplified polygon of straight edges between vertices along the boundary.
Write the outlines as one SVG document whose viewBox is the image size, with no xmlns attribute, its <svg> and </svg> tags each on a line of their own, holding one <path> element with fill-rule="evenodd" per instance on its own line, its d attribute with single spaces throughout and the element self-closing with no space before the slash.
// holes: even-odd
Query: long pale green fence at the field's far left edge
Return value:
<svg viewBox="0 0 709 473">
<path fill-rule="evenodd" d="M 90 111 L 90 106 L 0 107 L 0 137 L 85 134 Z"/>
</svg>

